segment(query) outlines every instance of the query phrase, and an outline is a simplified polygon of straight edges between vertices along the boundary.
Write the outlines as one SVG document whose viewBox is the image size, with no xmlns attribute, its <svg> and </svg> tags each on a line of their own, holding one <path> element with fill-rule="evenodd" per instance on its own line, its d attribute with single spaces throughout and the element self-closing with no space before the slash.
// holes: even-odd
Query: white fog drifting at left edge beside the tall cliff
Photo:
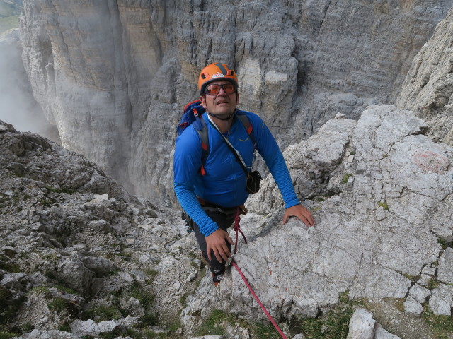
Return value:
<svg viewBox="0 0 453 339">
<path fill-rule="evenodd" d="M 0 35 L 0 120 L 17 131 L 38 133 L 59 142 L 56 126 L 45 119 L 33 98 L 22 63 L 18 29 Z"/>
</svg>

